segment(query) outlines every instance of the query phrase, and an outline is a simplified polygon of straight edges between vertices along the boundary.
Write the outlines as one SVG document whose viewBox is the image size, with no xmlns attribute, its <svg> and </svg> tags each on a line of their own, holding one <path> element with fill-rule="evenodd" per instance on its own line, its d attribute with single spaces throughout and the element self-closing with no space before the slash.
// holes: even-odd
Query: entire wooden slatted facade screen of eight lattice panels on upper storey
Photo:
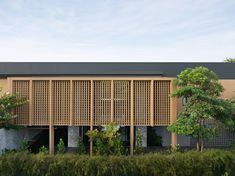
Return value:
<svg viewBox="0 0 235 176">
<path fill-rule="evenodd" d="M 16 109 L 16 123 L 20 125 L 46 126 L 51 118 L 55 126 L 89 126 L 92 117 L 93 126 L 110 122 L 130 126 L 131 81 L 133 125 L 169 125 L 171 108 L 175 108 L 169 96 L 171 78 L 9 79 L 12 92 L 29 99 L 28 104 Z"/>
</svg>

